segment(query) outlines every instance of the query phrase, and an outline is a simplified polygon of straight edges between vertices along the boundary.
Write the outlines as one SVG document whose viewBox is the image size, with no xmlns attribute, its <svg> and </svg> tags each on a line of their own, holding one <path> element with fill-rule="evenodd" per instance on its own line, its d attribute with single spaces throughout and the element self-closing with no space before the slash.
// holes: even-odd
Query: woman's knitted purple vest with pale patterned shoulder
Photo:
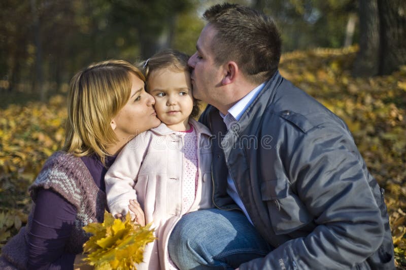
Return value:
<svg viewBox="0 0 406 270">
<path fill-rule="evenodd" d="M 75 226 L 66 245 L 66 252 L 79 254 L 90 235 L 82 229 L 91 222 L 103 222 L 106 209 L 106 194 L 101 191 L 80 158 L 65 152 L 55 152 L 45 163 L 29 192 L 33 203 L 41 189 L 52 189 L 77 209 Z M 33 204 L 32 209 L 35 204 Z M 2 249 L 2 256 L 18 268 L 25 269 L 28 260 L 28 232 L 32 222 L 32 211 L 28 223 Z"/>
</svg>

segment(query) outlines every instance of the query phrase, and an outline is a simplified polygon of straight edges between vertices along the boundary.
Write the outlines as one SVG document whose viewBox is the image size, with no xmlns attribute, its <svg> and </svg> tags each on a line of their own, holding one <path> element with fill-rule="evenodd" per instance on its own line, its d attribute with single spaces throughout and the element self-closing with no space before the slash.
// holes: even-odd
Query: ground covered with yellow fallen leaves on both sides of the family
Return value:
<svg viewBox="0 0 406 270">
<path fill-rule="evenodd" d="M 396 260 L 406 266 L 406 66 L 389 76 L 354 79 L 356 47 L 284 54 L 285 78 L 339 115 L 371 174 L 386 189 Z M 65 98 L 0 110 L 0 248 L 26 222 L 28 185 L 63 143 Z"/>
</svg>

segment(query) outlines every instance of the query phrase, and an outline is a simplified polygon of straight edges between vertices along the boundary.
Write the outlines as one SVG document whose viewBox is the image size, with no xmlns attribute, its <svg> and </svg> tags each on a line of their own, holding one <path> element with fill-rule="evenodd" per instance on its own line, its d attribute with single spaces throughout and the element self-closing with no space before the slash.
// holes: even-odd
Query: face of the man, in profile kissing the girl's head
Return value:
<svg viewBox="0 0 406 270">
<path fill-rule="evenodd" d="M 206 25 L 197 40 L 197 51 L 188 61 L 188 65 L 193 69 L 191 73 L 193 96 L 214 106 L 221 102 L 223 92 L 220 89 L 222 69 L 215 63 L 212 52 L 212 40 L 216 33 L 217 30 L 212 25 Z"/>
</svg>

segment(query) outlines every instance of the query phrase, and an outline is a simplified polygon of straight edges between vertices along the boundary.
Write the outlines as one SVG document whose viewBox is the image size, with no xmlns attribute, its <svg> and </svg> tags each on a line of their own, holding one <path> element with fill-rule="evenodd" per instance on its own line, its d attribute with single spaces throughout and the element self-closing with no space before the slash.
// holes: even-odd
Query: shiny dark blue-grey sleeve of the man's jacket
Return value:
<svg viewBox="0 0 406 270">
<path fill-rule="evenodd" d="M 365 261 L 381 245 L 384 226 L 350 133 L 339 126 L 316 127 L 286 150 L 285 160 L 280 158 L 316 227 L 240 268 L 345 269 Z"/>
</svg>

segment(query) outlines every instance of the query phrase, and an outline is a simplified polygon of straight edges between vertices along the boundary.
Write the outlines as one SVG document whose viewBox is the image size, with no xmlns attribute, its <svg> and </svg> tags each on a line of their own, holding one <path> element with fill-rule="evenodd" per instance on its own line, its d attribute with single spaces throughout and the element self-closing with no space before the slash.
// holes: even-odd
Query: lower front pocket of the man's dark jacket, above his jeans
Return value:
<svg viewBox="0 0 406 270">
<path fill-rule="evenodd" d="M 287 178 L 263 181 L 261 197 L 276 235 L 288 234 L 313 221 L 313 216 L 292 192 Z"/>
</svg>

